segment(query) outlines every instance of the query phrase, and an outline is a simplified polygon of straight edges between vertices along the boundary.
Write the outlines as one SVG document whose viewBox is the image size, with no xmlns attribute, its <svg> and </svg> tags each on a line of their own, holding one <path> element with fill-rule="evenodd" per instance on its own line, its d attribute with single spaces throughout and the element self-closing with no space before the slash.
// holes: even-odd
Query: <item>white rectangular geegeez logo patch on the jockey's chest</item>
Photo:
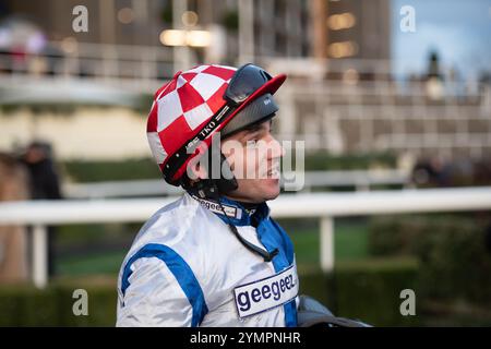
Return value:
<svg viewBox="0 0 491 349">
<path fill-rule="evenodd" d="M 283 305 L 298 294 L 295 265 L 268 278 L 233 289 L 239 317 L 247 317 Z"/>
</svg>

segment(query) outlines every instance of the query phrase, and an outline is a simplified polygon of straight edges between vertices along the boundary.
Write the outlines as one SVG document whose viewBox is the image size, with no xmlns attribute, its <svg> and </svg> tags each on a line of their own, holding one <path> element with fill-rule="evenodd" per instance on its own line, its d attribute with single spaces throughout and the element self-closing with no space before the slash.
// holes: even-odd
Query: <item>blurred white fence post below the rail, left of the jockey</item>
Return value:
<svg viewBox="0 0 491 349">
<path fill-rule="evenodd" d="M 37 288 L 48 285 L 48 231 L 41 225 L 33 227 L 33 281 Z"/>
</svg>

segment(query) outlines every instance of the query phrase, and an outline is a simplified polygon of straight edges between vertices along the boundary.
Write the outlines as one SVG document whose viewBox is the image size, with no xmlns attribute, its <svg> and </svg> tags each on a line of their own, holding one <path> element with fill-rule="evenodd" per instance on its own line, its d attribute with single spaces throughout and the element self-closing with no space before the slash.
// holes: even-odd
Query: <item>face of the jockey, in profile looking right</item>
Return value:
<svg viewBox="0 0 491 349">
<path fill-rule="evenodd" d="M 221 142 L 221 152 L 239 184 L 227 196 L 248 203 L 262 203 L 279 195 L 279 159 L 284 149 L 267 120 L 240 131 Z"/>
</svg>

